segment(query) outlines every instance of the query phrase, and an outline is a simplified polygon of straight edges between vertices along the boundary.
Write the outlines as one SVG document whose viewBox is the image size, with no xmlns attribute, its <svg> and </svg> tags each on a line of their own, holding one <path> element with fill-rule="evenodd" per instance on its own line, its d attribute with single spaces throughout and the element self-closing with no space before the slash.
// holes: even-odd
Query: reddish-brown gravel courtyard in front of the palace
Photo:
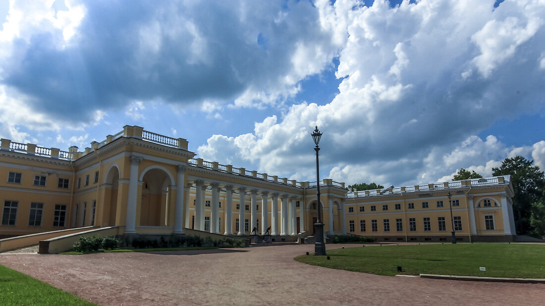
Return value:
<svg viewBox="0 0 545 306">
<path fill-rule="evenodd" d="M 293 260 L 313 248 L 286 244 L 149 253 L 1 254 L 0 264 L 100 305 L 465 306 L 542 305 L 545 300 L 545 284 L 387 277 Z"/>
</svg>

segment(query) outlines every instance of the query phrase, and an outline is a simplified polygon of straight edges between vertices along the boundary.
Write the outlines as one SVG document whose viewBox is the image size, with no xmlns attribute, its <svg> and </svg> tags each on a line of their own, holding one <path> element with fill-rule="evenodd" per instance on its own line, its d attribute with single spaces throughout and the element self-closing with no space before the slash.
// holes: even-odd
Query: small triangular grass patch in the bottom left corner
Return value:
<svg viewBox="0 0 545 306">
<path fill-rule="evenodd" d="M 0 304 L 94 305 L 2 265 L 0 265 Z"/>
</svg>

